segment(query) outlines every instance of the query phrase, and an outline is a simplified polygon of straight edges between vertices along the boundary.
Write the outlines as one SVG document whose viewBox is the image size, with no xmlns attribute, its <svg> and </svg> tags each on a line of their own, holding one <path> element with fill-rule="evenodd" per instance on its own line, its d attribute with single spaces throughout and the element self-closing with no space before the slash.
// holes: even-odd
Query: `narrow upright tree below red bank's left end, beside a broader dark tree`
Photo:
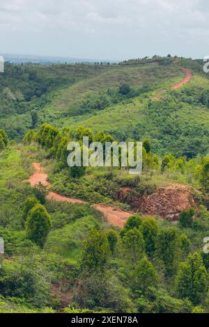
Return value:
<svg viewBox="0 0 209 327">
<path fill-rule="evenodd" d="M 154 218 L 146 218 L 141 224 L 141 232 L 145 241 L 146 253 L 152 256 L 156 250 L 157 235 L 160 232 L 157 221 Z"/>
</svg>

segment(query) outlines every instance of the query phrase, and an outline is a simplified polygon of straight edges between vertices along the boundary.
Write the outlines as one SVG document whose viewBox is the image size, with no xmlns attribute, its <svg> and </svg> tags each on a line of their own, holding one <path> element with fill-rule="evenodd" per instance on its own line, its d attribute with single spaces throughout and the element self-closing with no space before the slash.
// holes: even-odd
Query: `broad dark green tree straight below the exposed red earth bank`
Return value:
<svg viewBox="0 0 209 327">
<path fill-rule="evenodd" d="M 180 262 L 180 237 L 176 228 L 163 228 L 157 237 L 157 257 L 164 263 L 167 275 L 178 269 Z"/>
</svg>

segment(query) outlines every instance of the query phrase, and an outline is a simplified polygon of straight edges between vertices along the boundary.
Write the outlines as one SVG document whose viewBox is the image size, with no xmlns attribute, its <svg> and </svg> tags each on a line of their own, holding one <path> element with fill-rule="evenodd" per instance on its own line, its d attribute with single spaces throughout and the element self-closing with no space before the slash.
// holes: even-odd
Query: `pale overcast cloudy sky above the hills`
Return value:
<svg viewBox="0 0 209 327">
<path fill-rule="evenodd" d="M 121 60 L 209 55 L 208 0 L 0 0 L 0 51 Z"/>
</svg>

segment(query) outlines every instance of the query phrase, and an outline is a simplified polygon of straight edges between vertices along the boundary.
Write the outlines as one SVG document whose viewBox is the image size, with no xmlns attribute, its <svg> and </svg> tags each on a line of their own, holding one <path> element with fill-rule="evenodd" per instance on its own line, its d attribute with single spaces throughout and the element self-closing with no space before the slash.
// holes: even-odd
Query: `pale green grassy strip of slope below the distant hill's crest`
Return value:
<svg viewBox="0 0 209 327">
<path fill-rule="evenodd" d="M 160 67 L 159 65 L 143 66 L 113 66 L 102 72 L 97 77 L 92 77 L 84 81 L 61 90 L 56 99 L 52 102 L 50 109 L 52 111 L 67 111 L 76 100 L 84 97 L 91 91 L 98 93 L 107 88 L 118 87 L 123 83 L 130 84 L 135 88 L 143 86 L 146 83 L 160 83 L 162 79 L 180 79 L 183 74 L 178 67 Z"/>
</svg>

